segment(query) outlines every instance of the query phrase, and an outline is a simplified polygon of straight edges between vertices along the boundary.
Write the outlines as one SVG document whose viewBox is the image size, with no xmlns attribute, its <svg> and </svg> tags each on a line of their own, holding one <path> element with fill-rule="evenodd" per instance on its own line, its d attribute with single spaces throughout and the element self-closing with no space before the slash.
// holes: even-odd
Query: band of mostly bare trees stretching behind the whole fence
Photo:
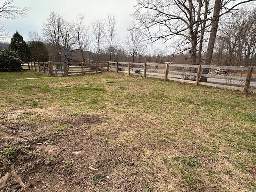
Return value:
<svg viewBox="0 0 256 192">
<path fill-rule="evenodd" d="M 35 31 L 29 32 L 28 55 L 23 56 L 22 60 L 58 61 L 58 50 L 61 50 L 62 59 L 67 59 L 64 51 L 72 51 L 74 60 L 84 62 L 168 61 L 206 65 L 255 65 L 254 2 L 137 0 L 132 13 L 134 24 L 127 28 L 124 40 L 116 32 L 115 15 L 109 14 L 103 20 L 94 19 L 90 26 L 85 26 L 84 14 L 79 14 L 75 21 L 70 22 L 58 13 L 50 12 L 42 24 L 41 35 Z M 19 11 L 20 16 L 28 14 L 28 8 Z M 155 49 L 152 42 L 161 42 L 166 45 L 166 50 Z"/>
</svg>

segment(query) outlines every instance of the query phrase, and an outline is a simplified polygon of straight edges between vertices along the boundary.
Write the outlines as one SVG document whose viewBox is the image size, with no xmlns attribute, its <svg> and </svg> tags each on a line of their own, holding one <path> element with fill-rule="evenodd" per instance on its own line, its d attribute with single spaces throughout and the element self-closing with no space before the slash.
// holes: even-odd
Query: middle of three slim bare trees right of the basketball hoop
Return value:
<svg viewBox="0 0 256 192">
<path fill-rule="evenodd" d="M 104 32 L 105 32 L 105 23 L 98 19 L 94 19 L 92 22 L 92 34 L 93 34 L 93 44 L 96 48 L 97 53 L 97 61 L 100 59 L 100 51 L 102 48 L 102 43 L 104 40 Z"/>
</svg>

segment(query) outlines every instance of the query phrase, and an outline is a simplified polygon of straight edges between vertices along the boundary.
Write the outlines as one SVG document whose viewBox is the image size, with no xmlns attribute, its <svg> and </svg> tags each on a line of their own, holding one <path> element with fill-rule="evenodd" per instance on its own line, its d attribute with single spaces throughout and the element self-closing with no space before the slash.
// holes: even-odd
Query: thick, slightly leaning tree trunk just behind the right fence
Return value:
<svg viewBox="0 0 256 192">
<path fill-rule="evenodd" d="M 216 34 L 217 34 L 218 24 L 219 24 L 219 18 L 220 18 L 221 2 L 222 0 L 215 0 L 214 12 L 213 12 L 213 18 L 212 18 L 212 28 L 211 28 L 209 43 L 208 43 L 207 52 L 206 52 L 206 59 L 204 63 L 205 65 L 210 65 L 212 61 L 212 53 L 214 49 L 214 44 L 215 44 Z M 209 69 L 204 68 L 203 73 L 208 74 L 208 72 L 209 72 Z M 202 77 L 200 81 L 207 82 L 207 77 Z"/>
</svg>

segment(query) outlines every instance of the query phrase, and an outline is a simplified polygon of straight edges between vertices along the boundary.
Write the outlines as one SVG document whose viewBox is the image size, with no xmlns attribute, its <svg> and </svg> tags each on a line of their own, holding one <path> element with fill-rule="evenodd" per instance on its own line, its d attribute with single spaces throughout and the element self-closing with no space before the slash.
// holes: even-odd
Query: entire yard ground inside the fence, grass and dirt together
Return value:
<svg viewBox="0 0 256 192">
<path fill-rule="evenodd" d="M 256 95 L 0 73 L 3 192 L 255 192 Z"/>
</svg>

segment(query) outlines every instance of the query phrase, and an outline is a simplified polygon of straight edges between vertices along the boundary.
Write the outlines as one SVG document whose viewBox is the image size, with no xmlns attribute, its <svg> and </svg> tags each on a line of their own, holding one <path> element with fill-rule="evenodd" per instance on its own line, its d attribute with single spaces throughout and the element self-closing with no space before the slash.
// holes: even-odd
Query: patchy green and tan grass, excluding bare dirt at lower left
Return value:
<svg viewBox="0 0 256 192">
<path fill-rule="evenodd" d="M 107 169 L 86 176 L 96 188 L 108 172 L 131 191 L 228 192 L 234 184 L 256 190 L 255 94 L 114 72 L 25 80 L 35 77 L 47 76 L 0 73 L 0 121 L 16 123 L 10 112 L 22 110 L 16 120 L 35 127 L 54 122 L 40 134 L 56 142 L 80 126 L 79 137 L 97 150 L 92 162 L 104 159 L 98 162 Z M 98 153 L 101 148 L 110 156 Z M 1 151 L 2 158 L 12 159 L 18 150 Z M 74 167 L 72 159 L 64 160 L 66 167 Z"/>
</svg>

